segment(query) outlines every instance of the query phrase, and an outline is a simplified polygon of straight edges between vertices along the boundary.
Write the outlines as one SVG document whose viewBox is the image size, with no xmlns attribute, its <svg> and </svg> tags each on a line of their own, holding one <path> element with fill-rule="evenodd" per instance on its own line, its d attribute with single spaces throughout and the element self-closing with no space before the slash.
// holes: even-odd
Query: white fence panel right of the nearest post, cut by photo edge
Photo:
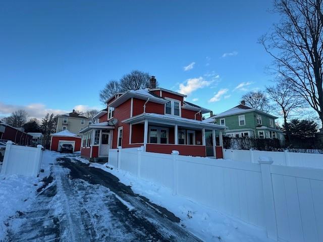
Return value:
<svg viewBox="0 0 323 242">
<path fill-rule="evenodd" d="M 323 241 L 323 171 L 271 167 L 278 237 Z"/>
</svg>

